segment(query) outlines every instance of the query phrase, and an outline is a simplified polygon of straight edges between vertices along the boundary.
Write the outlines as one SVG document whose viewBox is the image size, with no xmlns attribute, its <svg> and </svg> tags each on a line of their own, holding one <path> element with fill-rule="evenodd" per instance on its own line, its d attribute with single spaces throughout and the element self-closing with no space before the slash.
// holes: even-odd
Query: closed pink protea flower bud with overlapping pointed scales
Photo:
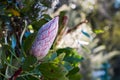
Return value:
<svg viewBox="0 0 120 80">
<path fill-rule="evenodd" d="M 51 48 L 58 32 L 58 20 L 59 17 L 55 17 L 39 29 L 31 48 L 31 53 L 38 60 L 43 59 Z"/>
</svg>

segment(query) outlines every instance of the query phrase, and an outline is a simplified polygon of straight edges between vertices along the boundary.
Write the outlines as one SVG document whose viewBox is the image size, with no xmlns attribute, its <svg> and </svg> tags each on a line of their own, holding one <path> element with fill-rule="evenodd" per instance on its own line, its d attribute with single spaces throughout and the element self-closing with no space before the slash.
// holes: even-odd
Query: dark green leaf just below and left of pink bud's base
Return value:
<svg viewBox="0 0 120 80">
<path fill-rule="evenodd" d="M 36 57 L 30 55 L 25 58 L 25 61 L 22 65 L 23 71 L 32 71 L 34 69 L 34 64 L 36 63 L 37 59 Z"/>
</svg>

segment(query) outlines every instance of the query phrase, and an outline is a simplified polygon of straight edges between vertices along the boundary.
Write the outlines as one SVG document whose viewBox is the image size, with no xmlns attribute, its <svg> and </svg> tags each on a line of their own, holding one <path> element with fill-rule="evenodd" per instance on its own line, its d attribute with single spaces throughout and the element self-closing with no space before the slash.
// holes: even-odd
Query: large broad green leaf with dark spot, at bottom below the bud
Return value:
<svg viewBox="0 0 120 80">
<path fill-rule="evenodd" d="M 41 63 L 39 69 L 45 80 L 68 80 L 68 71 L 61 64 Z"/>
</svg>

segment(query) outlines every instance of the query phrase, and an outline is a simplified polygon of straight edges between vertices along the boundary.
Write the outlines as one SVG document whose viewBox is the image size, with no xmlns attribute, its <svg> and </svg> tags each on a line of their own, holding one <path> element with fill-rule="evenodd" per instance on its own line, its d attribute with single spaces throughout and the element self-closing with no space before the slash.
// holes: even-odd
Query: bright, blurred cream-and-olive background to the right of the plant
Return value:
<svg viewBox="0 0 120 80">
<path fill-rule="evenodd" d="M 61 11 L 72 32 L 58 47 L 76 48 L 84 56 L 82 80 L 120 80 L 120 0 L 53 0 L 48 14 Z"/>
</svg>

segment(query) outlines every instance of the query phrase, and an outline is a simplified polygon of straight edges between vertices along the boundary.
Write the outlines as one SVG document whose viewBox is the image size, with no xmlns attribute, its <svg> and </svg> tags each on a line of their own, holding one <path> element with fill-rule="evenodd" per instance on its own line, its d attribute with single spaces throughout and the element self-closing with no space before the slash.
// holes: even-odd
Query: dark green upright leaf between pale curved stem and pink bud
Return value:
<svg viewBox="0 0 120 80">
<path fill-rule="evenodd" d="M 24 41 L 23 48 L 25 52 L 27 53 L 30 48 L 32 47 L 32 43 L 36 37 L 36 33 L 30 34 Z"/>
</svg>

